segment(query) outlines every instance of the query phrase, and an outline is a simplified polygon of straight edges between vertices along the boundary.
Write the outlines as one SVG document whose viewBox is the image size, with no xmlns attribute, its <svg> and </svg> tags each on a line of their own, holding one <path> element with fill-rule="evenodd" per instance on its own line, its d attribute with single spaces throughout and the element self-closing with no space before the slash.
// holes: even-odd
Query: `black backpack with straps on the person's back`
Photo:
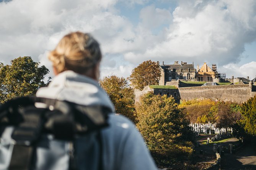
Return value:
<svg viewBox="0 0 256 170">
<path fill-rule="evenodd" d="M 43 104 L 38 108 L 35 104 Z M 72 141 L 79 136 L 98 132 L 108 126 L 111 109 L 104 106 L 83 106 L 68 101 L 39 97 L 21 97 L 0 106 L 0 135 L 7 127 L 14 127 L 11 135 L 13 149 L 9 170 L 31 170 L 35 165 L 36 144 L 42 134 L 51 134 L 56 140 Z M 77 169 L 74 149 L 69 153 L 69 169 Z M 101 157 L 101 153 L 99 156 Z M 99 158 L 102 169 L 102 158 Z"/>
</svg>

